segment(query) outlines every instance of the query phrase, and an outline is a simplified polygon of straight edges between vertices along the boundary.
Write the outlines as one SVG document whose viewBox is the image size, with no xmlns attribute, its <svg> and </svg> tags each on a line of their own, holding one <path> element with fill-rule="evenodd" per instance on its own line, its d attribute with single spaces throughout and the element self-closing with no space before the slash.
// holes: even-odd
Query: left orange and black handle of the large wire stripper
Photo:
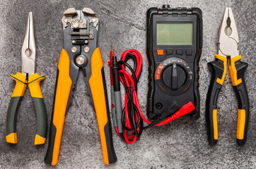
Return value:
<svg viewBox="0 0 256 169">
<path fill-rule="evenodd" d="M 69 77 L 69 68 L 69 55 L 62 49 L 58 64 L 57 86 L 55 89 L 49 145 L 45 156 L 45 163 L 51 165 L 56 165 L 59 158 L 59 147 L 62 141 L 62 130 L 72 84 L 72 80 Z"/>
</svg>

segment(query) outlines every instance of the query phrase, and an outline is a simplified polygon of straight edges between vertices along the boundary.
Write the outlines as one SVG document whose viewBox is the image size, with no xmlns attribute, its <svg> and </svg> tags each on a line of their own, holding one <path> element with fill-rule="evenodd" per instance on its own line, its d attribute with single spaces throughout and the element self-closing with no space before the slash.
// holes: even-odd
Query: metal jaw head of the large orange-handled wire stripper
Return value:
<svg viewBox="0 0 256 169">
<path fill-rule="evenodd" d="M 69 55 L 71 79 L 76 82 L 78 69 L 83 70 L 86 80 L 86 90 L 91 96 L 90 84 L 91 77 L 91 57 L 97 48 L 98 41 L 98 18 L 91 8 L 76 10 L 68 8 L 62 18 L 64 29 L 64 49 Z M 93 99 L 90 98 L 93 105 Z"/>
</svg>

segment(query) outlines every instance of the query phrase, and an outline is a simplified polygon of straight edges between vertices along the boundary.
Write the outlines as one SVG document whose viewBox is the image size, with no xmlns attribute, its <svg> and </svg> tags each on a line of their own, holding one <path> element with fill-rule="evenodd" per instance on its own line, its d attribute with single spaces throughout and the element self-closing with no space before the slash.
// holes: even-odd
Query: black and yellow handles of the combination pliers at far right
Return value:
<svg viewBox="0 0 256 169">
<path fill-rule="evenodd" d="M 218 124 L 217 107 L 219 91 L 221 90 L 226 75 L 226 64 L 228 61 L 229 75 L 235 95 L 238 99 L 238 125 L 237 125 L 237 143 L 242 146 L 246 142 L 246 136 L 249 123 L 249 99 L 245 85 L 244 74 L 248 63 L 240 61 L 241 56 L 226 58 L 215 55 L 215 61 L 208 63 L 211 71 L 211 82 L 206 97 L 206 126 L 208 139 L 211 145 L 218 142 Z"/>
</svg>

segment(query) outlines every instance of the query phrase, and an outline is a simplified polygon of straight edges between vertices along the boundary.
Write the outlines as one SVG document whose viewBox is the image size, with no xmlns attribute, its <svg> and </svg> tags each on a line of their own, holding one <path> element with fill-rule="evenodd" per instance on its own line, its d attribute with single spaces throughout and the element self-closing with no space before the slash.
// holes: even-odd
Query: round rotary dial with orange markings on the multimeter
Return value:
<svg viewBox="0 0 256 169">
<path fill-rule="evenodd" d="M 185 91 L 193 79 L 191 66 L 182 58 L 167 58 L 156 68 L 155 80 L 164 91 Z"/>
</svg>

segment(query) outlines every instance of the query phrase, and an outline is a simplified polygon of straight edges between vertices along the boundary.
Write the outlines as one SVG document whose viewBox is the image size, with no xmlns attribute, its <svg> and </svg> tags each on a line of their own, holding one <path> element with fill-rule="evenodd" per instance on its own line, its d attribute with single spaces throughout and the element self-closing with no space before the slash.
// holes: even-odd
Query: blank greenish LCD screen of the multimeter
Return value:
<svg viewBox="0 0 256 169">
<path fill-rule="evenodd" d="M 156 44 L 192 45 L 193 23 L 156 23 Z"/>
</svg>

